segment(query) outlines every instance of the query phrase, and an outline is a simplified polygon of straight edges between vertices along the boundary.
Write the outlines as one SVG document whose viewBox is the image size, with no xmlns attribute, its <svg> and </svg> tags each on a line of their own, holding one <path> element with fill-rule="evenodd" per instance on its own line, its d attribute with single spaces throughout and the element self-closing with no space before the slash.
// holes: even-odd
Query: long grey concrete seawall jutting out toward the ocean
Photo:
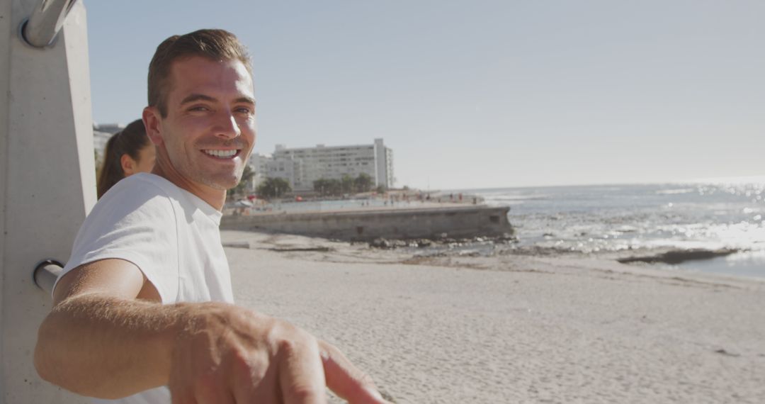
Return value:
<svg viewBox="0 0 765 404">
<path fill-rule="evenodd" d="M 221 229 L 269 230 L 329 239 L 371 240 L 501 236 L 512 233 L 509 207 L 454 206 L 416 209 L 270 213 L 224 216 Z"/>
</svg>

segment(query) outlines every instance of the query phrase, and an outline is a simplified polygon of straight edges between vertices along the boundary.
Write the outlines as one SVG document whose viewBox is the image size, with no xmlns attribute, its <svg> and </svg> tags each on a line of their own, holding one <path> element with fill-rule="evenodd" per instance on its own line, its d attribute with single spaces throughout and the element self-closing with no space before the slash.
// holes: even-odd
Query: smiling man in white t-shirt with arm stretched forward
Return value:
<svg viewBox="0 0 765 404">
<path fill-rule="evenodd" d="M 243 45 L 220 30 L 168 38 L 148 98 L 155 168 L 112 187 L 83 223 L 38 333 L 37 372 L 125 403 L 317 403 L 325 386 L 384 402 L 336 348 L 231 304 L 220 210 L 256 137 Z"/>
</svg>

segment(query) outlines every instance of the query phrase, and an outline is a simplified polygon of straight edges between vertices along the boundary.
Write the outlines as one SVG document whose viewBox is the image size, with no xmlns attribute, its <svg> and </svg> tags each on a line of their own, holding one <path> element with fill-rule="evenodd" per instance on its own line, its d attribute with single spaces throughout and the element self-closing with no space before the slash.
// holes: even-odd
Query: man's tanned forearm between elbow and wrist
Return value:
<svg viewBox="0 0 765 404">
<path fill-rule="evenodd" d="M 105 399 L 168 383 L 184 305 L 89 294 L 60 302 L 40 327 L 34 365 L 51 383 Z"/>
</svg>

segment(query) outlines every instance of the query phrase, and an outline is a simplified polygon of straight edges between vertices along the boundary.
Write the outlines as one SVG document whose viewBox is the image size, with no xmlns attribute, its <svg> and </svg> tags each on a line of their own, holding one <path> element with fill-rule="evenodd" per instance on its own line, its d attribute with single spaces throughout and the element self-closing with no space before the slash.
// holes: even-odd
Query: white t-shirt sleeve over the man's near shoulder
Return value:
<svg viewBox="0 0 765 404">
<path fill-rule="evenodd" d="M 163 303 L 174 302 L 179 283 L 175 215 L 171 199 L 154 184 L 120 187 L 118 183 L 80 227 L 59 279 L 89 262 L 124 259 L 155 285 Z"/>
</svg>

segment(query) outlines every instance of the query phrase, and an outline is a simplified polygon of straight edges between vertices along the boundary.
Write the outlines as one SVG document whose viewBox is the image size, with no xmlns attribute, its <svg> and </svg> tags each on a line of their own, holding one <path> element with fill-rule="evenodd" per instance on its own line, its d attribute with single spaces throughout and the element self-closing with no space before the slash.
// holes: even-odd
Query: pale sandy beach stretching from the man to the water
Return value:
<svg viewBox="0 0 765 404">
<path fill-rule="evenodd" d="M 762 281 L 222 235 L 249 245 L 226 248 L 240 305 L 337 345 L 395 402 L 765 402 Z"/>
</svg>

